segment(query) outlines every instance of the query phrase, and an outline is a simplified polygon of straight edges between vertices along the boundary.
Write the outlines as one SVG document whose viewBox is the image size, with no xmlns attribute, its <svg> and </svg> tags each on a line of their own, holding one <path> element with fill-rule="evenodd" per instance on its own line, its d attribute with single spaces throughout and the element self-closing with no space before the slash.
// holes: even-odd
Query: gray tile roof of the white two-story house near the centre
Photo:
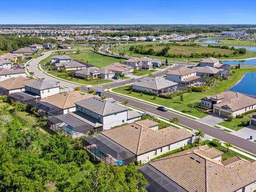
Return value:
<svg viewBox="0 0 256 192">
<path fill-rule="evenodd" d="M 102 116 L 107 116 L 128 110 L 125 107 L 119 106 L 115 103 L 99 99 L 96 97 L 76 102 L 76 105 L 81 106 L 87 110 L 90 110 Z"/>
</svg>

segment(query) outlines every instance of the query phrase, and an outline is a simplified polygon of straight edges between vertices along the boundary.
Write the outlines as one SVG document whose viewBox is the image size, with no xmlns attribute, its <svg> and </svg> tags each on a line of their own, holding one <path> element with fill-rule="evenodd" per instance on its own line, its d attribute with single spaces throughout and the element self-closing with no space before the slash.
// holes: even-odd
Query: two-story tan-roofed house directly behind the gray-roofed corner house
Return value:
<svg viewBox="0 0 256 192">
<path fill-rule="evenodd" d="M 166 79 L 175 83 L 181 84 L 193 84 L 200 80 L 200 76 L 196 75 L 196 70 L 181 67 L 175 70 L 168 70 L 166 73 Z"/>
</svg>

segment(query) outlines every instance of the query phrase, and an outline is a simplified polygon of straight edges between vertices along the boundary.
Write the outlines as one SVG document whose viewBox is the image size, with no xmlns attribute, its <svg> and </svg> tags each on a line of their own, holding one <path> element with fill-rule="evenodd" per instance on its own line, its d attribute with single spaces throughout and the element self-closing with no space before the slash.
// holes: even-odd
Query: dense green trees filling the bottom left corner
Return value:
<svg viewBox="0 0 256 192">
<path fill-rule="evenodd" d="M 145 191 L 134 164 L 93 164 L 81 139 L 42 134 L 0 108 L 0 191 Z"/>
</svg>

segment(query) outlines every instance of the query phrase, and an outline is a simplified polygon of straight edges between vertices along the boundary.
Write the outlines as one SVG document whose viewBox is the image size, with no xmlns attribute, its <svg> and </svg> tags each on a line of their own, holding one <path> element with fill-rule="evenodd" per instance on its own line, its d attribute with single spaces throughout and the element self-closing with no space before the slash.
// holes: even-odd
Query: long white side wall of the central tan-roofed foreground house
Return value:
<svg viewBox="0 0 256 192">
<path fill-rule="evenodd" d="M 137 156 L 137 161 L 141 161 L 141 163 L 147 163 L 147 162 L 150 161 L 150 159 L 152 159 L 154 157 L 157 157 L 159 155 L 167 153 L 168 151 L 171 151 L 171 150 L 183 147 L 185 145 L 188 145 L 191 142 L 192 142 L 192 138 L 188 138 L 188 139 L 176 142 L 176 143 L 172 143 L 170 145 L 170 150 L 169 150 L 169 147 L 168 147 L 169 145 L 168 145 L 168 146 L 162 147 L 162 152 L 161 152 L 161 148 L 158 148 L 158 149 L 156 149 L 157 150 L 157 154 L 156 155 L 154 155 L 154 151 L 155 150 L 149 151 L 146 154 L 142 154 L 142 155 Z"/>
</svg>

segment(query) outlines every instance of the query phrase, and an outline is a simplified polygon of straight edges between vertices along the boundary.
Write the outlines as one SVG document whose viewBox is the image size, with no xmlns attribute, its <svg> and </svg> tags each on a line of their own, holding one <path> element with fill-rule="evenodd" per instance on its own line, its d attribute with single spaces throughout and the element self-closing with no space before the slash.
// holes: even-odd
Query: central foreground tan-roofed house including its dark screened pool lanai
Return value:
<svg viewBox="0 0 256 192">
<path fill-rule="evenodd" d="M 147 125 L 155 122 L 146 122 Z M 184 147 L 193 141 L 193 135 L 185 128 L 166 127 L 161 130 L 143 125 L 143 121 L 115 127 L 97 135 L 84 138 L 85 148 L 100 161 L 117 165 L 131 162 L 147 163 L 150 159 L 173 149 Z"/>
</svg>

